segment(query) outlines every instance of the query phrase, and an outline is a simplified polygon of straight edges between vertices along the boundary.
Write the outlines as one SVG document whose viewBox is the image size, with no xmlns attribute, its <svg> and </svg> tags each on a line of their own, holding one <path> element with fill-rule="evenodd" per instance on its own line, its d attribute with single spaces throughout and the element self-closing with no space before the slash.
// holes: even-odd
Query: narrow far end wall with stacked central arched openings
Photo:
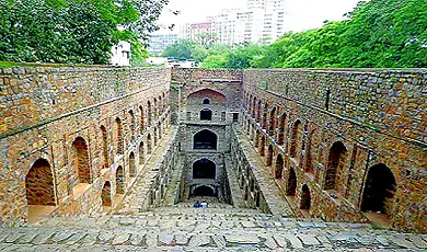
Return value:
<svg viewBox="0 0 427 252">
<path fill-rule="evenodd" d="M 181 151 L 186 156 L 183 199 L 192 195 L 194 188 L 207 185 L 215 187 L 219 201 L 230 202 L 230 193 L 224 165 L 224 152 L 230 151 L 230 129 L 233 113 L 240 112 L 242 98 L 242 71 L 173 69 L 172 80 L 181 106 L 180 114 Z M 176 95 L 177 94 L 177 95 Z M 203 116 L 208 112 L 207 117 Z M 206 114 L 205 114 L 206 115 Z M 209 130 L 217 137 L 215 148 L 196 148 L 196 135 Z M 215 180 L 193 179 L 193 163 L 208 159 L 216 163 Z"/>
</svg>

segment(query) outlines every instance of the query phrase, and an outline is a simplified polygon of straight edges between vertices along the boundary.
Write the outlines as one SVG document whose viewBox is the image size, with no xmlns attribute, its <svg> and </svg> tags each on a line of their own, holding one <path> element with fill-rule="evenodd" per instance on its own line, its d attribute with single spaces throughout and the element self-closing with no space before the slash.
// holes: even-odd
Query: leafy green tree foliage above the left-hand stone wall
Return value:
<svg viewBox="0 0 427 252">
<path fill-rule="evenodd" d="M 136 46 L 155 31 L 168 0 L 0 1 L 0 60 L 107 64 L 118 41 Z"/>
</svg>

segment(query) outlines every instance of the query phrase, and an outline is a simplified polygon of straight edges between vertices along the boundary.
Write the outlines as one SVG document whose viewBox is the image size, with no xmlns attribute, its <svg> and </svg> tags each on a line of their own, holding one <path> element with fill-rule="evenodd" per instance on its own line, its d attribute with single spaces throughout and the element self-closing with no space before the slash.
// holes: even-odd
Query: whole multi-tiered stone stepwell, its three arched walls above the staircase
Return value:
<svg viewBox="0 0 427 252">
<path fill-rule="evenodd" d="M 1 69 L 1 224 L 204 198 L 280 224 L 426 232 L 426 80 L 423 69 Z"/>
</svg>

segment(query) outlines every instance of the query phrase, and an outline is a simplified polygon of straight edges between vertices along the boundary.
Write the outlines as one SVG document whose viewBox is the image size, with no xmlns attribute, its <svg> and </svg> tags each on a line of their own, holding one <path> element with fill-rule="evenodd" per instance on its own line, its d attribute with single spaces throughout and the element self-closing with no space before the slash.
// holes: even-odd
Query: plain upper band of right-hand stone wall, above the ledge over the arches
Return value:
<svg viewBox="0 0 427 252">
<path fill-rule="evenodd" d="M 328 111 L 386 135 L 427 142 L 426 69 L 251 69 L 244 71 L 245 85 Z"/>
</svg>

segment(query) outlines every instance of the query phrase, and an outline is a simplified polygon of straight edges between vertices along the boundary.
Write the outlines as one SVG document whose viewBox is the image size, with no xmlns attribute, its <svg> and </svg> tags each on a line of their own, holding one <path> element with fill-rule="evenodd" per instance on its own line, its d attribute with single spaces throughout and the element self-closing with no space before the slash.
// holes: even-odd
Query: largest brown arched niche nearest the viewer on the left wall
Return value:
<svg viewBox="0 0 427 252">
<path fill-rule="evenodd" d="M 38 159 L 25 176 L 28 221 L 36 222 L 56 206 L 54 176 L 46 159 Z"/>
</svg>

